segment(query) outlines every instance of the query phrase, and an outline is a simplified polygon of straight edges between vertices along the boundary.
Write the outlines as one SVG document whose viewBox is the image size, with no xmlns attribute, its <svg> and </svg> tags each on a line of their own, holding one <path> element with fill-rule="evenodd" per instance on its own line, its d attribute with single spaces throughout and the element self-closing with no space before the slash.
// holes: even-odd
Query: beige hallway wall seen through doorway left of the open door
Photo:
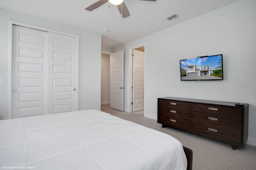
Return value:
<svg viewBox="0 0 256 170">
<path fill-rule="evenodd" d="M 101 54 L 101 104 L 110 103 L 110 54 Z"/>
</svg>

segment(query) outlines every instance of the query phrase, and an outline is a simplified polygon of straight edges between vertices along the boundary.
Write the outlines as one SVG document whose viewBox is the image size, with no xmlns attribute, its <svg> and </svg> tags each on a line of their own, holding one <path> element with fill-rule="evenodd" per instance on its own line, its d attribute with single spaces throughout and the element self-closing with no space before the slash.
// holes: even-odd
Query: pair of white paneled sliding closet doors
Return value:
<svg viewBox="0 0 256 170">
<path fill-rule="evenodd" d="M 77 110 L 76 38 L 13 26 L 12 118 Z"/>
</svg>

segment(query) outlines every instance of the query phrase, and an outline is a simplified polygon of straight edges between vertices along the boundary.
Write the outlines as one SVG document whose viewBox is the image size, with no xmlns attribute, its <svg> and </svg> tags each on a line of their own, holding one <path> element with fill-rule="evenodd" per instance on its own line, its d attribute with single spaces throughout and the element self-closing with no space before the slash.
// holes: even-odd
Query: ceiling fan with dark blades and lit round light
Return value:
<svg viewBox="0 0 256 170">
<path fill-rule="evenodd" d="M 85 8 L 85 10 L 87 10 L 87 11 L 95 10 L 96 8 L 102 6 L 103 4 L 105 4 L 108 1 L 111 4 L 117 6 L 122 18 L 126 18 L 126 17 L 130 16 L 130 12 L 129 12 L 127 6 L 124 4 L 124 0 L 99 0 L 98 2 L 95 2 L 94 4 Z M 144 0 L 144 1 L 156 1 L 156 0 Z"/>
</svg>

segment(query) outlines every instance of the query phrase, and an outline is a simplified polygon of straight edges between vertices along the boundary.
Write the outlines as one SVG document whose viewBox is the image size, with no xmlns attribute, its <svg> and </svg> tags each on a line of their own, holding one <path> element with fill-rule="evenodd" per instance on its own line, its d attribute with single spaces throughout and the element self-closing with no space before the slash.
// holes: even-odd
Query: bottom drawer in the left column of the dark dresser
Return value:
<svg viewBox="0 0 256 170">
<path fill-rule="evenodd" d="M 169 115 L 158 115 L 158 123 L 183 130 L 190 130 L 190 120 Z"/>
</svg>

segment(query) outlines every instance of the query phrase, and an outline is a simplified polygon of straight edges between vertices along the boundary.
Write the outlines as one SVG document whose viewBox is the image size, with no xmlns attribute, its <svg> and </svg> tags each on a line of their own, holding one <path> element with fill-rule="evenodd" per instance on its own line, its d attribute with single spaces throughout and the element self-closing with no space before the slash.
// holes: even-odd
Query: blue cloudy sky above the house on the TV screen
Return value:
<svg viewBox="0 0 256 170">
<path fill-rule="evenodd" d="M 220 67 L 222 65 L 222 55 L 214 55 L 210 57 L 202 57 L 202 58 L 194 58 L 194 59 L 186 59 L 180 61 L 180 67 L 186 70 L 186 65 L 208 65 L 211 66 L 212 69 Z"/>
</svg>

